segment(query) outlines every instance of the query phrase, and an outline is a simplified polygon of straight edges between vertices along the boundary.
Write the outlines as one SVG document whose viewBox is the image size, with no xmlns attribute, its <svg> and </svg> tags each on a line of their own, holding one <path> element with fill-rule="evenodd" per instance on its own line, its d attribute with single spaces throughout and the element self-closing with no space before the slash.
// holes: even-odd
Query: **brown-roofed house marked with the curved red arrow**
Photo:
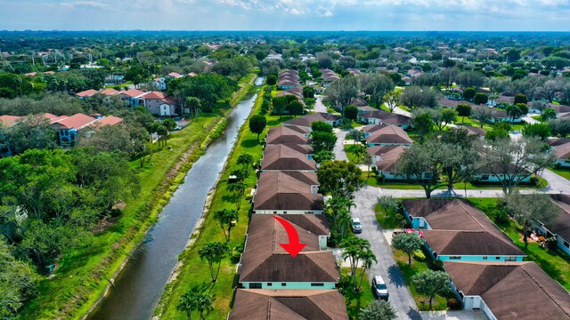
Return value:
<svg viewBox="0 0 570 320">
<path fill-rule="evenodd" d="M 334 289 L 338 284 L 335 256 L 327 251 L 329 224 L 322 215 L 284 214 L 305 247 L 293 258 L 280 244 L 289 244 L 281 222 L 271 214 L 253 214 L 238 274 L 245 289 Z"/>
</svg>

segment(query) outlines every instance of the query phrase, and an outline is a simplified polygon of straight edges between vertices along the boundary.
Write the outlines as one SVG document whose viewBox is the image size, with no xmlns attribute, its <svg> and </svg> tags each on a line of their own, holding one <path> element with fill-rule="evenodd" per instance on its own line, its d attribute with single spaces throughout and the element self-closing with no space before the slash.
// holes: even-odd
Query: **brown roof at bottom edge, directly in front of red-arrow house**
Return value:
<svg viewBox="0 0 570 320">
<path fill-rule="evenodd" d="M 346 320 L 345 298 L 337 290 L 238 289 L 228 320 Z"/>
</svg>

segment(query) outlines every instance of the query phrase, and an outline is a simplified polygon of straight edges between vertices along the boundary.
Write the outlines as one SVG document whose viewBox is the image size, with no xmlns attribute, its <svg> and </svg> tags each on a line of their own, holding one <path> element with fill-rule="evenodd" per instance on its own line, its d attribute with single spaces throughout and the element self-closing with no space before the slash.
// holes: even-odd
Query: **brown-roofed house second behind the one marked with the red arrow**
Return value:
<svg viewBox="0 0 570 320">
<path fill-rule="evenodd" d="M 267 145 L 261 160 L 261 171 L 316 172 L 317 164 L 308 155 L 283 144 Z"/>
</svg>

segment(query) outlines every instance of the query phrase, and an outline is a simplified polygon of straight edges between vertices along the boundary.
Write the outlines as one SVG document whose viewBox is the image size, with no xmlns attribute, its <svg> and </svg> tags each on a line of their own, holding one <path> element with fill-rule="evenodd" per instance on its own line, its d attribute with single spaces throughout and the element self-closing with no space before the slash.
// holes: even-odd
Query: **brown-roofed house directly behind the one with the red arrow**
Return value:
<svg viewBox="0 0 570 320">
<path fill-rule="evenodd" d="M 261 172 L 253 198 L 254 213 L 321 214 L 324 201 L 314 172 Z"/>
</svg>

